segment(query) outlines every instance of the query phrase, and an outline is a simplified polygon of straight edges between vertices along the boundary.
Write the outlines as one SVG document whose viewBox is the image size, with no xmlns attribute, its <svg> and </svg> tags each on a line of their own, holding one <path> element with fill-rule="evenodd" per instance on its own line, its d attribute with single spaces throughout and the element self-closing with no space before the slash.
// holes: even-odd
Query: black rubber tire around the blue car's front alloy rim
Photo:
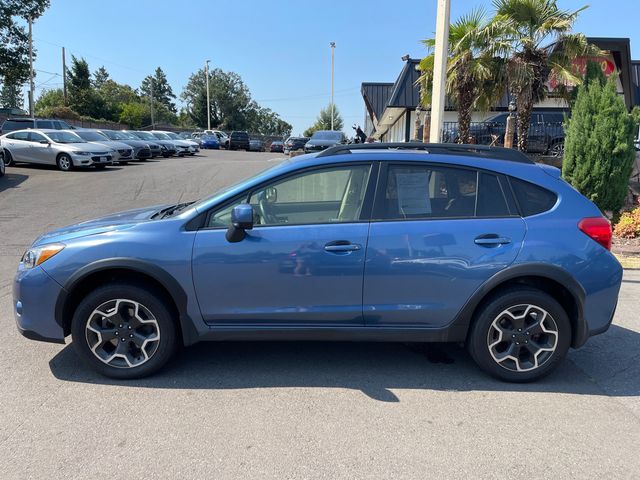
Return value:
<svg viewBox="0 0 640 480">
<path fill-rule="evenodd" d="M 138 303 L 142 306 L 142 308 L 145 309 L 145 312 L 151 314 L 152 317 L 148 316 L 147 318 L 153 318 L 153 320 L 155 320 L 155 325 L 157 325 L 159 340 L 157 342 L 150 342 L 151 347 L 153 347 L 153 352 L 149 355 L 145 355 L 148 356 L 148 359 L 144 360 L 139 365 L 118 366 L 105 363 L 106 359 L 101 360 L 100 358 L 98 358 L 97 354 L 94 354 L 91 350 L 91 345 L 89 344 L 89 335 L 91 334 L 92 330 L 87 329 L 87 324 L 92 321 L 92 319 L 95 320 L 96 309 L 98 307 L 103 308 L 104 305 L 109 305 L 112 302 L 117 302 L 118 299 L 121 299 L 120 301 L 123 304 L 126 304 L 127 302 L 130 302 L 131 304 Z M 124 306 L 126 307 L 126 305 Z M 162 300 L 162 296 L 160 294 L 155 292 L 153 289 L 147 288 L 143 285 L 113 283 L 105 285 L 103 287 L 99 287 L 89 293 L 76 308 L 71 323 L 73 345 L 78 352 L 78 355 L 80 355 L 80 357 L 88 365 L 107 377 L 130 379 L 151 375 L 157 372 L 165 363 L 167 363 L 167 361 L 173 356 L 177 348 L 178 333 L 176 329 L 176 319 L 171 312 L 171 309 Z M 103 319 L 104 318 L 105 317 L 103 317 Z M 109 323 L 107 325 L 109 325 Z M 153 326 L 153 329 L 156 328 L 155 325 Z M 130 328 L 127 330 L 126 326 L 122 327 L 121 325 L 114 324 L 111 330 L 115 329 L 116 335 L 118 335 L 112 340 L 112 342 L 115 341 L 115 345 L 119 345 L 118 339 L 122 340 L 123 338 L 122 333 L 117 331 L 118 327 L 122 328 L 122 330 L 125 332 L 124 337 L 127 337 L 127 334 L 132 331 Z M 133 332 L 136 333 L 138 328 L 142 327 L 134 326 Z M 108 331 L 108 329 L 105 330 L 105 332 L 106 331 Z M 99 340 L 102 340 L 102 337 L 100 337 Z M 133 344 L 133 340 L 128 340 L 127 338 L 123 340 L 123 342 L 124 344 L 132 344 L 130 348 L 133 350 L 136 349 L 136 345 Z M 103 344 L 107 345 L 107 343 L 108 342 L 104 342 Z M 157 343 L 157 345 L 155 345 L 155 343 Z M 95 347 L 95 343 L 93 346 Z M 113 348 L 115 350 L 115 348 L 117 347 L 114 347 L 114 344 L 112 343 L 111 347 L 109 348 Z M 104 352 L 104 349 L 101 349 L 100 351 Z M 132 356 L 133 355 L 135 355 L 135 352 L 132 354 Z M 138 356 L 136 360 L 140 359 L 141 357 Z M 111 361 L 114 363 L 123 362 L 121 358 L 114 358 Z M 128 364 L 129 361 L 126 360 L 126 363 Z"/>
</svg>

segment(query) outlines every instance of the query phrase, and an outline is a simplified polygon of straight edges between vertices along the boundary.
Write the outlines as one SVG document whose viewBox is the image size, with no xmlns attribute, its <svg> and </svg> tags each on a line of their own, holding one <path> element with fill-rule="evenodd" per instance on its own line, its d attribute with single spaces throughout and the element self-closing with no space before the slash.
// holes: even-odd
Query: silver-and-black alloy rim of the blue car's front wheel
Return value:
<svg viewBox="0 0 640 480">
<path fill-rule="evenodd" d="M 91 352 L 116 368 L 146 363 L 160 345 L 160 327 L 153 313 L 141 303 L 123 298 L 99 305 L 89 315 L 85 335 Z"/>
</svg>

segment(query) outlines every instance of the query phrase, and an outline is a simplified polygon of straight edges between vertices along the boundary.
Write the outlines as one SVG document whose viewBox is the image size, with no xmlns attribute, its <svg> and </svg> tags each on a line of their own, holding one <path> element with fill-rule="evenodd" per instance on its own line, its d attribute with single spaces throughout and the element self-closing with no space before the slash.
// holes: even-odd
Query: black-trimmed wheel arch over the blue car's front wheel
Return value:
<svg viewBox="0 0 640 480">
<path fill-rule="evenodd" d="M 117 258 L 90 263 L 75 272 L 64 284 L 55 307 L 55 320 L 67 336 L 73 313 L 84 295 L 107 282 L 126 281 L 151 286 L 173 310 L 184 345 L 195 343 L 197 331 L 187 314 L 187 294 L 171 274 L 142 260 Z"/>
</svg>

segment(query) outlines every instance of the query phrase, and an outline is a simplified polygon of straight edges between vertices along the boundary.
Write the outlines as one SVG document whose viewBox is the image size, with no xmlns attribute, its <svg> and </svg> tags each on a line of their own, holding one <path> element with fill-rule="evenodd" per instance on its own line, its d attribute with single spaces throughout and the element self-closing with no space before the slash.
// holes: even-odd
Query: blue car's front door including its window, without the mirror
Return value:
<svg viewBox="0 0 640 480">
<path fill-rule="evenodd" d="M 279 178 L 212 211 L 196 234 L 193 281 L 212 325 L 362 325 L 370 164 Z M 225 238 L 249 202 L 254 228 Z"/>
</svg>

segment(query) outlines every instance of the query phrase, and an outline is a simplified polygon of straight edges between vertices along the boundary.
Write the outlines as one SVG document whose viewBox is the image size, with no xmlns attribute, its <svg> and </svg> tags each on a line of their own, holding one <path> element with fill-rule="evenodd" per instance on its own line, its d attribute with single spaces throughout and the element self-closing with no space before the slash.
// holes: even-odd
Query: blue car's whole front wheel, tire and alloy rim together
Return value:
<svg viewBox="0 0 640 480">
<path fill-rule="evenodd" d="M 111 284 L 87 295 L 71 324 L 76 351 L 112 378 L 140 378 L 159 370 L 177 346 L 171 309 L 153 290 Z"/>
</svg>

